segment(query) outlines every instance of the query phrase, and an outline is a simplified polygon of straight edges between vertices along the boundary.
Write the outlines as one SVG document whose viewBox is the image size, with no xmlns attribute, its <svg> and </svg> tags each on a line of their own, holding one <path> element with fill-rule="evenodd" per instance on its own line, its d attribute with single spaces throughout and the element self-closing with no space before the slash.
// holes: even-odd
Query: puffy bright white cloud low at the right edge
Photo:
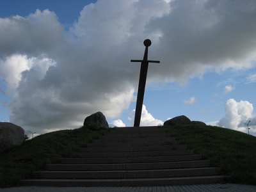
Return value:
<svg viewBox="0 0 256 192">
<path fill-rule="evenodd" d="M 253 118 L 253 105 L 246 100 L 237 102 L 234 99 L 228 99 L 225 105 L 225 111 L 225 116 L 217 124 L 220 127 L 246 132 L 246 126 L 244 124 L 248 120 L 252 121 L 251 125 L 256 125 L 255 118 Z"/>
</svg>

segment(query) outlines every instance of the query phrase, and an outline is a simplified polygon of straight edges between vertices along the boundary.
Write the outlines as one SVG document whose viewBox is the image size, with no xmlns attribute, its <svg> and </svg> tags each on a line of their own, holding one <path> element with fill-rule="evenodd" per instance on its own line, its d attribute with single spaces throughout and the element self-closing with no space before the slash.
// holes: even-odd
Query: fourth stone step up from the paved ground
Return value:
<svg viewBox="0 0 256 192">
<path fill-rule="evenodd" d="M 106 158 L 60 158 L 61 164 L 82 163 L 150 163 L 150 162 L 175 162 L 175 161 L 197 161 L 201 155 L 189 156 L 158 156 L 158 157 L 106 157 Z"/>
</svg>

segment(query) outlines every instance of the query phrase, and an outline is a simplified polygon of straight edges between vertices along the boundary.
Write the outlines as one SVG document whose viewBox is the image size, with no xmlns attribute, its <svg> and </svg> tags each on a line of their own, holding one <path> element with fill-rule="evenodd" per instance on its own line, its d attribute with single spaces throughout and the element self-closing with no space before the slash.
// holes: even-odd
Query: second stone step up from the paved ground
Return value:
<svg viewBox="0 0 256 192">
<path fill-rule="evenodd" d="M 134 179 L 219 175 L 220 168 L 179 168 L 164 170 L 111 171 L 44 171 L 35 172 L 38 179 Z"/>
</svg>

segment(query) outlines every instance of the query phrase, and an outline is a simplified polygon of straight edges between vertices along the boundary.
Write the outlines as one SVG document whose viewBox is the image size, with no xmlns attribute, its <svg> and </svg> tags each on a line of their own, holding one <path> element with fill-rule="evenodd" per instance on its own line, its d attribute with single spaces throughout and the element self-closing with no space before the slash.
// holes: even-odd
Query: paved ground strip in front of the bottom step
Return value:
<svg viewBox="0 0 256 192">
<path fill-rule="evenodd" d="M 97 188 L 50 188 L 50 187 L 20 187 L 20 188 L 4 188 L 0 191 L 6 192 L 31 192 L 31 191 L 43 191 L 43 192 L 255 192 L 256 186 L 246 186 L 240 184 L 206 184 L 206 185 L 193 185 L 193 186 L 154 186 L 154 187 L 97 187 Z"/>
</svg>

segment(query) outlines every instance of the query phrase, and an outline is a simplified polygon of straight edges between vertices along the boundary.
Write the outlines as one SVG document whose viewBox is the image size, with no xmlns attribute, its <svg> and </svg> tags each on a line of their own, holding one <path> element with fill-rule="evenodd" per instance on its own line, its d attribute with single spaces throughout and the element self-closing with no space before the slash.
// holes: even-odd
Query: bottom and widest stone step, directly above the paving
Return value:
<svg viewBox="0 0 256 192">
<path fill-rule="evenodd" d="M 122 186 L 180 186 L 193 184 L 214 184 L 223 182 L 223 176 L 167 177 L 147 179 L 28 179 L 24 186 L 53 187 L 122 187 Z"/>
</svg>

